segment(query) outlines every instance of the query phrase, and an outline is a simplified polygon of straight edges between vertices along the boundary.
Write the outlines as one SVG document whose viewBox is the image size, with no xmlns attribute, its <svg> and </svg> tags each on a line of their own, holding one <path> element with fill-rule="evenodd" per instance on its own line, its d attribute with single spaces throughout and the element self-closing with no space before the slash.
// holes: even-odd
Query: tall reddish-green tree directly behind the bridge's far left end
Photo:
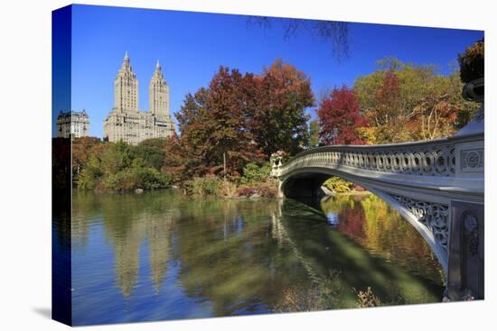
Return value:
<svg viewBox="0 0 497 331">
<path fill-rule="evenodd" d="M 311 79 L 294 66 L 276 60 L 255 77 L 256 99 L 248 107 L 248 130 L 268 157 L 273 152 L 295 154 L 307 145 L 308 116 L 314 106 Z M 250 99 L 250 97 L 248 97 Z"/>
</svg>

